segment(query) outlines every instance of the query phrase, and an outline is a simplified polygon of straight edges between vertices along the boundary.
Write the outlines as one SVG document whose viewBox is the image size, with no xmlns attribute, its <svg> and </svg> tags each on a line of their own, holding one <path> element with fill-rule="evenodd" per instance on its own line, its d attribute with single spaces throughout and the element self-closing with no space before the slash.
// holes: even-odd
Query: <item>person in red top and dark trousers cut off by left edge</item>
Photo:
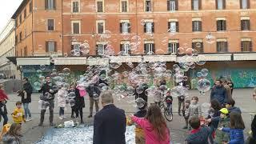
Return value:
<svg viewBox="0 0 256 144">
<path fill-rule="evenodd" d="M 3 90 L 3 85 L 0 83 L 0 121 L 3 118 L 3 123 L 2 126 L 5 126 L 6 123 L 8 122 L 8 117 L 7 117 L 7 109 L 6 109 L 6 102 L 9 98 L 5 94 Z"/>
</svg>

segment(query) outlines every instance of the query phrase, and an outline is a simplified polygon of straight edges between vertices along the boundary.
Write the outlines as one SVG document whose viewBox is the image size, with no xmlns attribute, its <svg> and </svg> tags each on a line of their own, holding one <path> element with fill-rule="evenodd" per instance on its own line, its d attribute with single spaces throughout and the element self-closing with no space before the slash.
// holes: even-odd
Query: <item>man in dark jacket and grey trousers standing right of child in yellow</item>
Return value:
<svg viewBox="0 0 256 144">
<path fill-rule="evenodd" d="M 54 121 L 54 94 L 56 94 L 58 92 L 58 90 L 53 90 L 53 86 L 54 86 L 54 84 L 51 82 L 50 76 L 46 76 L 46 83 L 44 83 L 42 85 L 41 90 L 39 90 L 39 93 L 43 94 L 43 99 L 42 100 L 50 103 L 50 106 L 49 106 L 50 126 L 54 126 L 54 123 L 53 123 L 53 121 Z M 45 114 L 46 114 L 46 110 L 41 110 L 40 123 L 39 123 L 38 126 L 42 126 L 42 123 L 43 123 L 44 118 L 45 118 Z"/>
</svg>

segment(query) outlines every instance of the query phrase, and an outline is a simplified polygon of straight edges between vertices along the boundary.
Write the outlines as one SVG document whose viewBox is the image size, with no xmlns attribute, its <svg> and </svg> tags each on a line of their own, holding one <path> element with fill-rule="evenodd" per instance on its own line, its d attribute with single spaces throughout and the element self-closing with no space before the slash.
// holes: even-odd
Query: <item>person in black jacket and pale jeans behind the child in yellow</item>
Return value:
<svg viewBox="0 0 256 144">
<path fill-rule="evenodd" d="M 29 109 L 29 103 L 31 102 L 31 94 L 33 92 L 33 88 L 29 82 L 28 78 L 23 78 L 22 79 L 23 82 L 23 88 L 22 90 L 18 91 L 18 95 L 20 95 L 22 97 L 22 104 L 24 107 L 24 111 L 25 111 L 25 118 L 26 121 L 31 121 L 32 117 L 31 117 L 31 113 L 30 113 L 30 109 Z"/>
</svg>

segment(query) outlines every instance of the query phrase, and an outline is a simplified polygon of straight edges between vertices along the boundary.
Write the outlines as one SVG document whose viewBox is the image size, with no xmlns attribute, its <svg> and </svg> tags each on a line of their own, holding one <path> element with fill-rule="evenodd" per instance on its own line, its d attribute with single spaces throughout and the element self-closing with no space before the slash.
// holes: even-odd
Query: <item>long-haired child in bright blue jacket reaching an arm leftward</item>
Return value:
<svg viewBox="0 0 256 144">
<path fill-rule="evenodd" d="M 232 112 L 230 113 L 230 128 L 221 127 L 218 130 L 222 130 L 226 133 L 230 133 L 230 142 L 229 144 L 243 144 L 243 130 L 246 128 L 244 122 L 242 121 L 241 114 Z"/>
</svg>

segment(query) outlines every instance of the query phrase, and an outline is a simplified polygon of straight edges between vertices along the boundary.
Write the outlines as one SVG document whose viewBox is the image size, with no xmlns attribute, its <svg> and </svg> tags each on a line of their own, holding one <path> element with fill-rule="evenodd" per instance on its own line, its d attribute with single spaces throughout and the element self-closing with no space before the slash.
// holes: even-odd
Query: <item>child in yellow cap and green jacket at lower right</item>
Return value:
<svg viewBox="0 0 256 144">
<path fill-rule="evenodd" d="M 221 110 L 219 110 L 219 112 L 220 112 L 220 120 L 218 122 L 218 127 L 221 127 L 221 126 L 228 127 L 230 122 L 230 118 L 228 118 L 229 111 L 226 108 L 222 108 Z M 230 140 L 229 134 L 222 132 L 222 130 L 216 130 L 214 142 L 225 143 L 225 142 L 229 142 L 229 140 Z"/>
</svg>

